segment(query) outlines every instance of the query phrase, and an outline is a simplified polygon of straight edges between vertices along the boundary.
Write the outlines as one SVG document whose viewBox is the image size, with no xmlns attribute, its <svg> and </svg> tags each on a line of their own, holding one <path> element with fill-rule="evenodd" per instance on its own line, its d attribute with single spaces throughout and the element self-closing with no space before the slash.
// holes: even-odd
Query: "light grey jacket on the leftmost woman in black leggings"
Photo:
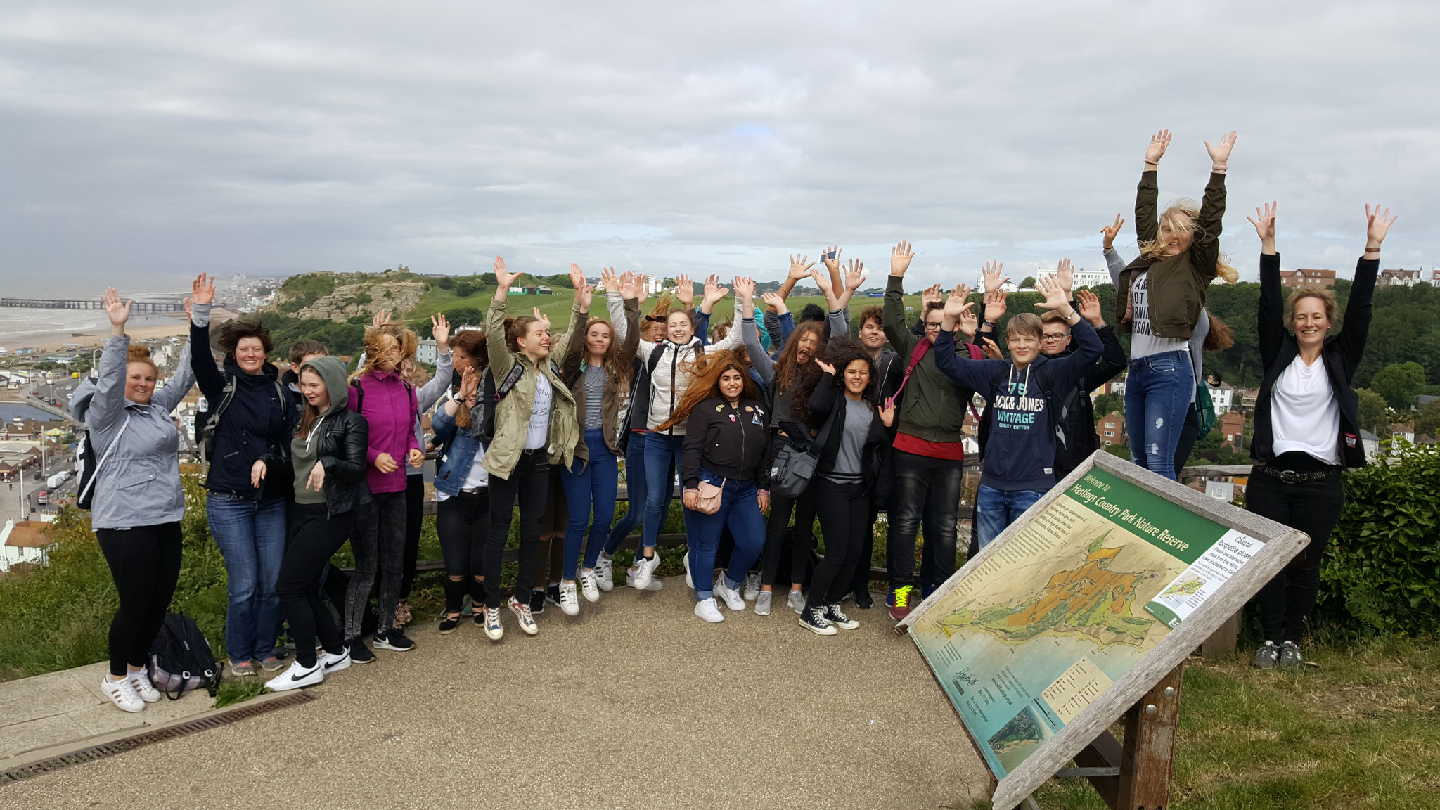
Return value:
<svg viewBox="0 0 1440 810">
<path fill-rule="evenodd" d="M 156 389 L 148 405 L 125 399 L 128 347 L 128 334 L 111 336 L 99 359 L 99 376 L 82 382 L 71 399 L 71 414 L 89 430 L 95 460 L 104 458 L 91 487 L 92 529 L 154 526 L 184 516 L 180 432 L 170 412 L 194 385 L 190 343 L 176 375 Z"/>
</svg>

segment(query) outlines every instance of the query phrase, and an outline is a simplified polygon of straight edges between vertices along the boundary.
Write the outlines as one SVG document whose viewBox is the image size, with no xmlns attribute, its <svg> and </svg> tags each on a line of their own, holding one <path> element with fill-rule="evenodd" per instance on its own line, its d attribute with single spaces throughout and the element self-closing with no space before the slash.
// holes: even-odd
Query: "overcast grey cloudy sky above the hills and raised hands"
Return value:
<svg viewBox="0 0 1440 810">
<path fill-rule="evenodd" d="M 1240 138 L 1221 246 L 1440 264 L 1434 3 L 0 4 L 0 291 L 183 274 L 1099 270 Z M 1122 251 L 1132 255 L 1126 223 Z"/>
</svg>

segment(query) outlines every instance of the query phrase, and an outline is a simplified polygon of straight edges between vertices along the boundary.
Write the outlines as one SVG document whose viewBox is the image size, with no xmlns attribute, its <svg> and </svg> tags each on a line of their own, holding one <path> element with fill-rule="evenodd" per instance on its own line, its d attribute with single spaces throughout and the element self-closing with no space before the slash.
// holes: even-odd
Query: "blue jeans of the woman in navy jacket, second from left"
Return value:
<svg viewBox="0 0 1440 810">
<path fill-rule="evenodd" d="M 204 516 L 225 558 L 225 651 L 232 662 L 264 660 L 279 636 L 275 582 L 285 559 L 285 499 L 251 500 L 212 491 L 204 499 Z"/>
</svg>

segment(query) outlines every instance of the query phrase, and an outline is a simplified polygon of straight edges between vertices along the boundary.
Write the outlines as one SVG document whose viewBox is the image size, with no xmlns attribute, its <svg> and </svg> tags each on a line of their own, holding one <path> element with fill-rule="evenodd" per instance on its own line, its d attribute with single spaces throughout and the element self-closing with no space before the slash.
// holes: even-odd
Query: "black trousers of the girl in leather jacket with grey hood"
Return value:
<svg viewBox="0 0 1440 810">
<path fill-rule="evenodd" d="M 327 517 L 324 503 L 297 503 L 295 517 L 298 525 L 279 564 L 275 595 L 279 597 L 279 614 L 289 624 L 289 637 L 295 641 L 295 660 L 310 669 L 315 666 L 317 637 L 330 654 L 338 656 L 344 650 L 340 628 L 321 597 L 321 578 L 330 558 L 354 530 L 356 510 Z"/>
</svg>

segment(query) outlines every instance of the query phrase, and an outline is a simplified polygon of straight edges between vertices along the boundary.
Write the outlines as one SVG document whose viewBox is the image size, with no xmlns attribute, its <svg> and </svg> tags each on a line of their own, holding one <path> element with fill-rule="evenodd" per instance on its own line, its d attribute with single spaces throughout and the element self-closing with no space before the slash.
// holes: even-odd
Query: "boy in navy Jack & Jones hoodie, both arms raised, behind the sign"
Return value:
<svg viewBox="0 0 1440 810">
<path fill-rule="evenodd" d="M 1021 313 L 1005 324 L 1009 360 L 972 360 L 955 353 L 955 321 L 971 307 L 959 285 L 945 303 L 945 324 L 935 340 L 935 365 L 960 388 L 985 398 L 989 441 L 976 493 L 979 545 L 985 548 L 1040 496 L 1056 486 L 1056 393 L 1067 393 L 1100 357 L 1094 329 L 1070 306 L 1053 277 L 1037 282 L 1045 300 L 1070 324 L 1076 350 L 1064 357 L 1040 353 L 1040 317 Z"/>
</svg>

